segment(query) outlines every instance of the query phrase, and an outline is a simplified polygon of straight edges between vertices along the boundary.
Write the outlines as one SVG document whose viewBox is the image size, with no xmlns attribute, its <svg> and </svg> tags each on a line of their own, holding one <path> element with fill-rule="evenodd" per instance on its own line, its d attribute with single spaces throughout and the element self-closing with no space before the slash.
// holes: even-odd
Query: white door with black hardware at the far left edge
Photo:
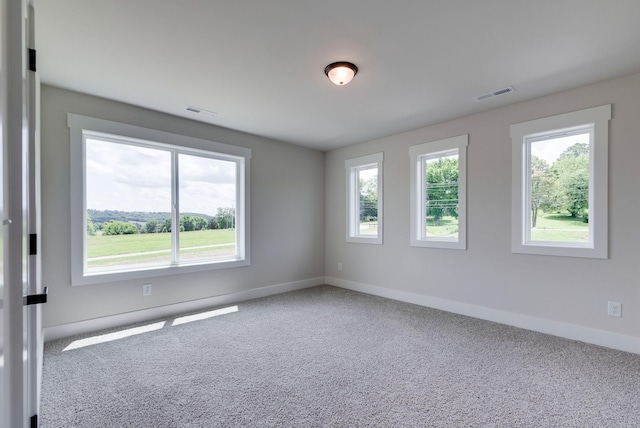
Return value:
<svg viewBox="0 0 640 428">
<path fill-rule="evenodd" d="M 32 0 L 0 0 L 2 126 L 2 395 L 0 426 L 37 423 L 39 390 L 37 236 L 38 82 L 28 48 Z M 42 299 L 42 297 L 41 297 Z"/>
</svg>

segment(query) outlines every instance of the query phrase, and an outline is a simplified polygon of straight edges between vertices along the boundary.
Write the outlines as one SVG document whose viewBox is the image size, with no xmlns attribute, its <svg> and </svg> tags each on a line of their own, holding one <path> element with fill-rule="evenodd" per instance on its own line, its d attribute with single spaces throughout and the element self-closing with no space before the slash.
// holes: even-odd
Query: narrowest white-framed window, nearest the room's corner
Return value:
<svg viewBox="0 0 640 428">
<path fill-rule="evenodd" d="M 345 161 L 347 242 L 382 244 L 382 160 L 376 153 Z"/>
</svg>

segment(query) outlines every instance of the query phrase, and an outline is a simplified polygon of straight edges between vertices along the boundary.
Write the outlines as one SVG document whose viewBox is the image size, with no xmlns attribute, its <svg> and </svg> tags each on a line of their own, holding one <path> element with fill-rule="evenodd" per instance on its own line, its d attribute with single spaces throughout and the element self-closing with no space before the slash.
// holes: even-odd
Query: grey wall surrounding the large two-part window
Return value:
<svg viewBox="0 0 640 428">
<path fill-rule="evenodd" d="M 252 149 L 251 266 L 72 287 L 69 112 Z M 50 86 L 41 119 L 44 327 L 324 275 L 324 153 Z"/>
</svg>

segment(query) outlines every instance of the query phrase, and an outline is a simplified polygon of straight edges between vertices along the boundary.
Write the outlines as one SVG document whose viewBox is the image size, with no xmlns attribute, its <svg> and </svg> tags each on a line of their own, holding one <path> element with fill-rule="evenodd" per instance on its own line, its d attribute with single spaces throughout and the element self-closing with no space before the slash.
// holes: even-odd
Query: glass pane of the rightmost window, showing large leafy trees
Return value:
<svg viewBox="0 0 640 428">
<path fill-rule="evenodd" d="M 530 240 L 589 242 L 590 133 L 529 144 Z"/>
</svg>

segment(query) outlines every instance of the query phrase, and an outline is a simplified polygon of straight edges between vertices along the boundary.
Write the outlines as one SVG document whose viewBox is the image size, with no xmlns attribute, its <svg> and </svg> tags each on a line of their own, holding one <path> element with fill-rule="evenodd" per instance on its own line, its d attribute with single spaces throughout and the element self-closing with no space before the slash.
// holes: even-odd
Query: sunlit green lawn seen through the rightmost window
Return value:
<svg viewBox="0 0 640 428">
<path fill-rule="evenodd" d="M 588 242 L 589 224 L 569 214 L 538 214 L 536 228 L 531 230 L 533 241 Z"/>
</svg>

